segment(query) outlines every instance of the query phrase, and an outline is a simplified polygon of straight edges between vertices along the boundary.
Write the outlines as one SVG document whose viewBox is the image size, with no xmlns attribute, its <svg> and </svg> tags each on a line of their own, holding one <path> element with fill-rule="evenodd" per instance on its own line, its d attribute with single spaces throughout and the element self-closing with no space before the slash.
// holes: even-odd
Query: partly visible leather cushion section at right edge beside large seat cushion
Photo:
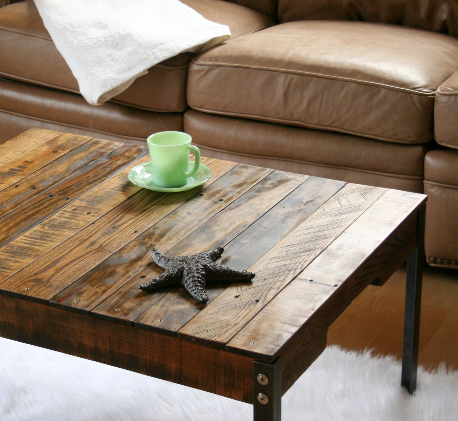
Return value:
<svg viewBox="0 0 458 421">
<path fill-rule="evenodd" d="M 458 149 L 458 72 L 437 89 L 434 138 L 439 145 Z"/>
</svg>

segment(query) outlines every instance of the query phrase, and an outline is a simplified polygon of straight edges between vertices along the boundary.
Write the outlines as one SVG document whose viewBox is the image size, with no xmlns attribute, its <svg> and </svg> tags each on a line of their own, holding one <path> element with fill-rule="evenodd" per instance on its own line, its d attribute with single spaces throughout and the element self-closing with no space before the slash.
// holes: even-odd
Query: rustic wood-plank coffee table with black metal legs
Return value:
<svg viewBox="0 0 458 421">
<path fill-rule="evenodd" d="M 426 196 L 204 158 L 212 178 L 167 194 L 127 180 L 144 146 L 33 129 L 0 145 L 0 335 L 253 404 L 281 396 L 371 282 L 408 259 L 402 384 L 415 389 Z M 141 291 L 172 255 L 225 248 L 256 272 Z"/>
</svg>

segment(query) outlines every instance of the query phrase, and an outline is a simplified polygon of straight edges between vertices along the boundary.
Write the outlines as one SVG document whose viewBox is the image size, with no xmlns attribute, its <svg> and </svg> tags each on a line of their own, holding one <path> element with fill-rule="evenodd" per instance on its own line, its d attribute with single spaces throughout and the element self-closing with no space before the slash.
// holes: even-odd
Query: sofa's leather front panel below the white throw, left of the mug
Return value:
<svg viewBox="0 0 458 421">
<path fill-rule="evenodd" d="M 10 125 L 21 127 L 22 131 L 31 127 L 63 130 L 64 126 L 71 133 L 76 129 L 78 133 L 98 133 L 107 139 L 145 141 L 151 133 L 183 130 L 182 113 L 155 113 L 110 102 L 94 107 L 72 92 L 3 78 L 0 78 L 0 113 L 3 113 L 0 127 L 2 123 L 8 127 L 4 131 Z"/>
</svg>

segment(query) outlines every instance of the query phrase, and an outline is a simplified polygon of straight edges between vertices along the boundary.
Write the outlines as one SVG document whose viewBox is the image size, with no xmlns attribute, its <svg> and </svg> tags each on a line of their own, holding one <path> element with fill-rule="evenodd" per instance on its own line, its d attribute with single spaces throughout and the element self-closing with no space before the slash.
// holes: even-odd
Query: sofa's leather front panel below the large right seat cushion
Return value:
<svg viewBox="0 0 458 421">
<path fill-rule="evenodd" d="M 237 162 L 285 171 L 394 189 L 423 189 L 425 145 L 401 145 L 196 110 L 185 112 L 184 127 L 207 156 L 207 151 L 213 151 L 237 156 Z"/>
</svg>

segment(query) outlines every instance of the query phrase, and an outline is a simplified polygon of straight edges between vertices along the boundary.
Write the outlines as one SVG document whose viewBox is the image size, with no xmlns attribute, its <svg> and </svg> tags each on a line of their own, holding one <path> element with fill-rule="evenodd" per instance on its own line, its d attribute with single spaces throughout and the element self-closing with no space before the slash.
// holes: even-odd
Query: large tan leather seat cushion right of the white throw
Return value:
<svg viewBox="0 0 458 421">
<path fill-rule="evenodd" d="M 432 139 L 436 89 L 458 39 L 368 22 L 288 22 L 196 56 L 197 110 L 398 143 Z"/>
</svg>

